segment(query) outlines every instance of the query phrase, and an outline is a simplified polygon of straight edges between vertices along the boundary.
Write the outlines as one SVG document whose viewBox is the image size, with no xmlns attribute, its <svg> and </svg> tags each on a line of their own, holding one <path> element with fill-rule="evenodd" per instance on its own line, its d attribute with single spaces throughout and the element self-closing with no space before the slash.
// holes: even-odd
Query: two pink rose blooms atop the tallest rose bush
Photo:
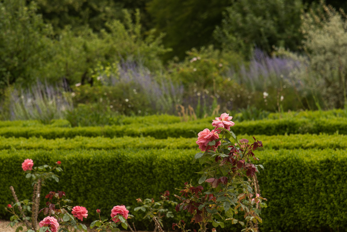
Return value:
<svg viewBox="0 0 347 232">
<path fill-rule="evenodd" d="M 216 117 L 215 120 L 212 120 L 212 126 L 214 126 L 214 130 L 204 129 L 203 131 L 199 132 L 197 134 L 198 138 L 196 141 L 196 144 L 199 145 L 199 148 L 201 151 L 206 150 L 216 150 L 217 147 L 221 144 L 220 141 L 216 142 L 213 146 L 209 145 L 209 142 L 212 142 L 214 140 L 217 140 L 219 138 L 218 133 L 220 133 L 220 130 L 217 130 L 217 128 L 225 128 L 227 130 L 230 130 L 230 127 L 234 126 L 235 123 L 230 121 L 232 119 L 231 116 L 227 113 L 223 113 L 220 115 L 220 117 Z"/>
</svg>

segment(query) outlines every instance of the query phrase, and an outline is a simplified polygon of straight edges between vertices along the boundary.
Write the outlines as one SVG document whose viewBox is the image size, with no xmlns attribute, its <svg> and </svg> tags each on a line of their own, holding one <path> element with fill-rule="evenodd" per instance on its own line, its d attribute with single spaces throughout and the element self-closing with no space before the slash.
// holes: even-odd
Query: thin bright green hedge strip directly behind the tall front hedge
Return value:
<svg viewBox="0 0 347 232">
<path fill-rule="evenodd" d="M 247 138 L 253 141 L 249 135 L 239 135 L 239 138 Z M 266 149 L 347 149 L 347 135 L 255 135 L 262 141 Z M 167 138 L 155 139 L 153 137 L 81 137 L 75 138 L 5 138 L 0 137 L 1 149 L 43 149 L 43 150 L 76 150 L 76 149 L 121 149 L 129 147 L 133 149 L 197 149 L 195 141 L 197 138 Z"/>
</svg>

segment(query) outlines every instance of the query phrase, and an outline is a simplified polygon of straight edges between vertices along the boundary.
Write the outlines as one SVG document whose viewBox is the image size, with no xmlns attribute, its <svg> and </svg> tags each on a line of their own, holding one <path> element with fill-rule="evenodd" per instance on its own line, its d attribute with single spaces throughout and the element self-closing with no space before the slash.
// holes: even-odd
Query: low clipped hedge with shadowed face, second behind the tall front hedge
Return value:
<svg viewBox="0 0 347 232">
<path fill-rule="evenodd" d="M 75 127 L 75 128 L 52 128 L 52 127 L 3 127 L 0 136 L 4 137 L 43 137 L 73 138 L 76 136 L 86 137 L 123 137 L 123 136 L 151 136 L 156 139 L 168 137 L 197 137 L 197 134 L 205 128 L 213 129 L 210 122 L 203 120 L 196 122 L 180 122 L 141 127 L 136 123 L 125 126 L 105 127 Z M 284 135 L 284 134 L 347 134 L 347 118 L 334 119 L 278 119 L 244 121 L 236 123 L 232 130 L 240 134 L 248 135 Z"/>
</svg>

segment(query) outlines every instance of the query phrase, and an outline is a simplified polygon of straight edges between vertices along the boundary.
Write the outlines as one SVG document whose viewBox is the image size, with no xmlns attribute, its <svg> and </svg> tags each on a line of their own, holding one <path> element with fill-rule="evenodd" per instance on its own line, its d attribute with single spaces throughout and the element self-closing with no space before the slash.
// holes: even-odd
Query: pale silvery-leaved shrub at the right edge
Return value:
<svg viewBox="0 0 347 232">
<path fill-rule="evenodd" d="M 320 7 L 302 15 L 303 48 L 325 104 L 342 107 L 347 103 L 347 18 L 342 10 Z"/>
</svg>

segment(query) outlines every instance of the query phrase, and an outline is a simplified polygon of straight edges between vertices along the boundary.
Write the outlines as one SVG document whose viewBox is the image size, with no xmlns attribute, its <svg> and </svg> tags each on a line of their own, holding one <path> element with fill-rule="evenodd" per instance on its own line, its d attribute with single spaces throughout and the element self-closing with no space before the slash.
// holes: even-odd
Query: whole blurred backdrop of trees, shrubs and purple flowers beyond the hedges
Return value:
<svg viewBox="0 0 347 232">
<path fill-rule="evenodd" d="M 0 117 L 83 126 L 119 115 L 241 112 L 256 120 L 346 109 L 346 7 L 0 0 Z"/>
</svg>

